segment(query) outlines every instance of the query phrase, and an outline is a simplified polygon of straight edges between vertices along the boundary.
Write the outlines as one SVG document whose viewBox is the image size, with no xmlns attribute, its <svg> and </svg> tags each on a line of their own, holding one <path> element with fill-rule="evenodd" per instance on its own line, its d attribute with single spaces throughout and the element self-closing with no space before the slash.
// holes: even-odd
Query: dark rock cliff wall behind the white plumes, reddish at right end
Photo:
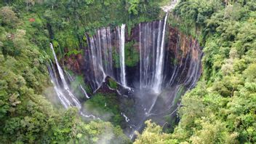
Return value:
<svg viewBox="0 0 256 144">
<path fill-rule="evenodd" d="M 142 69 L 140 67 L 142 63 L 143 65 L 148 65 L 148 69 L 145 70 L 148 73 L 148 77 L 153 77 L 154 66 L 156 66 L 153 59 L 156 59 L 155 53 L 157 51 L 155 41 L 159 41 L 157 35 L 159 34 L 158 31 L 161 25 L 163 23 L 159 21 L 140 23 L 140 25 L 132 28 L 129 36 L 126 33 L 125 69 L 129 87 L 137 87 L 137 83 L 141 82 L 138 80 L 141 77 Z M 88 46 L 84 47 L 83 55 L 64 57 L 67 68 L 75 73 L 84 75 L 85 81 L 92 89 L 96 89 L 97 87 L 96 82 L 92 81 L 92 79 L 103 77 L 104 74 L 108 75 L 109 73 L 113 79 L 119 81 L 119 29 L 114 28 L 111 30 L 110 28 L 101 28 L 95 36 L 92 36 L 92 39 L 87 39 L 87 42 Z M 101 70 L 95 69 L 92 65 L 92 51 L 94 49 L 96 51 L 97 47 L 102 47 L 100 55 L 103 59 L 101 61 L 103 63 L 102 67 L 107 71 L 105 73 L 101 73 Z M 144 52 L 143 55 L 149 56 L 141 57 L 140 49 Z M 147 49 L 150 50 L 147 51 Z M 105 55 L 105 53 L 108 53 L 108 55 Z M 196 39 L 193 39 L 191 36 L 185 36 L 177 28 L 172 28 L 168 25 L 164 41 L 163 87 L 170 87 L 172 84 L 182 84 L 183 82 L 186 82 L 185 84 L 187 85 L 194 85 L 201 74 L 201 56 L 201 47 Z M 148 63 L 144 63 L 143 58 L 148 58 Z M 104 65 L 104 63 L 108 64 Z"/>
</svg>

